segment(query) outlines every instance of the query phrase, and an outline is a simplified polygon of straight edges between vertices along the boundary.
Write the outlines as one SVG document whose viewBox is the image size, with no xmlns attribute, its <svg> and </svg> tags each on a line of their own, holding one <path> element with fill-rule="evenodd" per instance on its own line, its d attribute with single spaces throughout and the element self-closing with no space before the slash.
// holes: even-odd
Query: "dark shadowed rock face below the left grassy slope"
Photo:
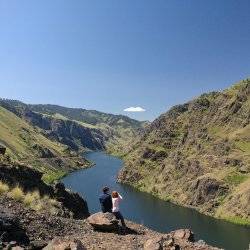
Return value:
<svg viewBox="0 0 250 250">
<path fill-rule="evenodd" d="M 66 191 L 62 183 L 47 185 L 37 170 L 21 165 L 0 166 L 0 180 L 11 187 L 20 186 L 24 192 L 39 191 L 42 196 L 56 199 L 61 203 L 63 216 L 72 215 L 75 219 L 89 216 L 87 202 L 79 194 Z"/>
</svg>

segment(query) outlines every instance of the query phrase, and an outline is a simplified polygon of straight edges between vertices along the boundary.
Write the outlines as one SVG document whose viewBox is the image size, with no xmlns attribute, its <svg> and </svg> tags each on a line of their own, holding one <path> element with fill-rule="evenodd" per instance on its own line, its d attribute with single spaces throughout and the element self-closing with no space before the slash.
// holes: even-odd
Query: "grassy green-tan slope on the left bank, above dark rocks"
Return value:
<svg viewBox="0 0 250 250">
<path fill-rule="evenodd" d="M 0 106 L 0 143 L 7 148 L 5 161 L 31 164 L 52 180 L 86 165 L 63 144 L 48 140 L 38 128 Z M 3 160 L 3 159 L 2 159 Z"/>
</svg>

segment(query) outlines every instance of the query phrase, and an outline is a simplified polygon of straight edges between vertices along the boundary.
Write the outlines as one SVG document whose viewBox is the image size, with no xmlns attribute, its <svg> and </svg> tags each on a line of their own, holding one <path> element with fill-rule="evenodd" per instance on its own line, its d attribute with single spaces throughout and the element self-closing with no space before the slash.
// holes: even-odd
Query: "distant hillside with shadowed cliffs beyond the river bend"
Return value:
<svg viewBox="0 0 250 250">
<path fill-rule="evenodd" d="M 43 130 L 54 141 L 72 150 L 104 150 L 123 153 L 143 129 L 144 123 L 122 115 L 57 105 L 27 105 L 0 100 L 0 105 Z"/>
</svg>

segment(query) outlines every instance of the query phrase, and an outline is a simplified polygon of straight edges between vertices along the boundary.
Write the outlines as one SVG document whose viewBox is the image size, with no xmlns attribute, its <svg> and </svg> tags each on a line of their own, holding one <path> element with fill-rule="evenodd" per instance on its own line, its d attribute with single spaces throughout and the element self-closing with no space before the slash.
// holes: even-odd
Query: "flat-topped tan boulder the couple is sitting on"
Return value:
<svg viewBox="0 0 250 250">
<path fill-rule="evenodd" d="M 87 222 L 95 229 L 100 231 L 115 231 L 118 229 L 118 220 L 112 213 L 96 213 L 87 218 Z"/>
</svg>

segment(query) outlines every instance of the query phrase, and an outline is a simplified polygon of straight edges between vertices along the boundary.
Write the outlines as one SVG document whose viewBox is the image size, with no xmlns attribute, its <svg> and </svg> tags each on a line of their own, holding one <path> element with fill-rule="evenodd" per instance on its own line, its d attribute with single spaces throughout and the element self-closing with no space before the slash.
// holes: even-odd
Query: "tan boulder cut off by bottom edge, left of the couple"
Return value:
<svg viewBox="0 0 250 250">
<path fill-rule="evenodd" d="M 54 238 L 43 250 L 87 250 L 87 248 L 76 239 Z"/>
</svg>

